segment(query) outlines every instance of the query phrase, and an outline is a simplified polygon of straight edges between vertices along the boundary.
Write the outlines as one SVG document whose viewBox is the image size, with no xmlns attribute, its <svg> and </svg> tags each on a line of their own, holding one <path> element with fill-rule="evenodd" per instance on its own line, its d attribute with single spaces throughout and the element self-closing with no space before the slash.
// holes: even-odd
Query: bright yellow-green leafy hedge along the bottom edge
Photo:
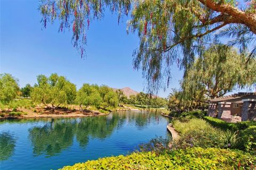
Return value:
<svg viewBox="0 0 256 170">
<path fill-rule="evenodd" d="M 165 154 L 133 152 L 65 166 L 68 169 L 253 169 L 255 157 L 243 151 L 217 148 L 190 148 Z"/>
</svg>

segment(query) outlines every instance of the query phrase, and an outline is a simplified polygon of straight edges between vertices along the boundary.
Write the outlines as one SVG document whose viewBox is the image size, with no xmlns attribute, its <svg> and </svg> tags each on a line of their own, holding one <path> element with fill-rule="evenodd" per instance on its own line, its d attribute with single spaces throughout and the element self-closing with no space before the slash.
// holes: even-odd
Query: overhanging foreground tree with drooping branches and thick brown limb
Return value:
<svg viewBox="0 0 256 170">
<path fill-rule="evenodd" d="M 169 84 L 173 64 L 187 69 L 216 33 L 215 38 L 227 36 L 228 44 L 241 50 L 252 46 L 249 56 L 255 56 L 255 5 L 254 0 L 43 0 L 39 8 L 44 27 L 55 20 L 60 32 L 71 27 L 81 57 L 93 19 L 102 18 L 106 8 L 118 13 L 118 22 L 123 14 L 131 14 L 127 30 L 140 38 L 134 67 L 142 69 L 150 89 L 157 90 L 163 80 Z"/>
</svg>

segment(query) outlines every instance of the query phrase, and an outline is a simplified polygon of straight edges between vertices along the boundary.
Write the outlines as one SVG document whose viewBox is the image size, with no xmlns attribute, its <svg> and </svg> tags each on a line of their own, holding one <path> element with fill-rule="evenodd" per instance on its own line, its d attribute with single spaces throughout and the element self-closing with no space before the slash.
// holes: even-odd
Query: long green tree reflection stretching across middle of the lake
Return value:
<svg viewBox="0 0 256 170">
<path fill-rule="evenodd" d="M 157 114 L 147 112 L 113 113 L 108 116 L 52 119 L 43 126 L 29 129 L 29 139 L 35 156 L 47 157 L 59 154 L 73 145 L 76 139 L 79 146 L 85 148 L 90 138 L 105 140 L 115 129 L 125 122 L 133 122 L 138 130 L 147 127 L 151 121 L 157 122 Z"/>
</svg>

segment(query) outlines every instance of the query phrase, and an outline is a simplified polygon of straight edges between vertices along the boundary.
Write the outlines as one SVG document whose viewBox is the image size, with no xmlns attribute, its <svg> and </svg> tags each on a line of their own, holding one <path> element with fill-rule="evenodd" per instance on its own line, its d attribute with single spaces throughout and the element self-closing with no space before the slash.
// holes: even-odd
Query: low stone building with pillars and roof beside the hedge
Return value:
<svg viewBox="0 0 256 170">
<path fill-rule="evenodd" d="M 210 99 L 208 116 L 227 122 L 256 121 L 256 92 L 238 92 Z"/>
</svg>

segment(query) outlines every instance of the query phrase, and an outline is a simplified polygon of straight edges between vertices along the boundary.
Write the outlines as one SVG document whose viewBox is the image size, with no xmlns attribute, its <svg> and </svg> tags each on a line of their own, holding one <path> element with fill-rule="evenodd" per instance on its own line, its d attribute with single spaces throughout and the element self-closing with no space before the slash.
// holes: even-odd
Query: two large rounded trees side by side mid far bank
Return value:
<svg viewBox="0 0 256 170">
<path fill-rule="evenodd" d="M 38 75 L 31 98 L 53 110 L 60 105 L 70 104 L 78 104 L 81 111 L 89 106 L 107 109 L 107 107 L 118 105 L 117 94 L 112 88 L 97 84 L 83 84 L 77 91 L 75 84 L 56 73 L 51 74 L 50 77 Z"/>
</svg>

